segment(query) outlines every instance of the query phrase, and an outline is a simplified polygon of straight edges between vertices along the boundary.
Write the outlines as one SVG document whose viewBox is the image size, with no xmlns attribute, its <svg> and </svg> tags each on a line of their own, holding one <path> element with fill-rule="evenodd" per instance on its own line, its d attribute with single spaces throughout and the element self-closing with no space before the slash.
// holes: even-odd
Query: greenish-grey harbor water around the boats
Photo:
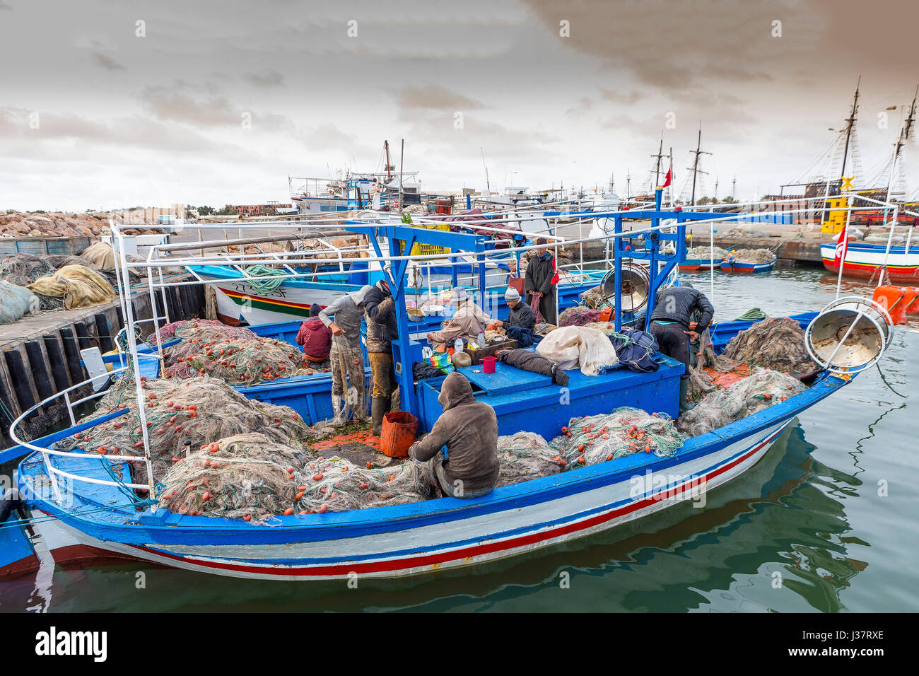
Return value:
<svg viewBox="0 0 919 676">
<path fill-rule="evenodd" d="M 708 273 L 684 279 L 709 293 Z M 820 309 L 835 284 L 818 269 L 716 272 L 712 301 L 720 320 L 752 307 L 784 316 Z M 846 295 L 870 292 L 843 282 Z M 704 508 L 687 501 L 628 529 L 488 567 L 350 585 L 124 563 L 63 570 L 39 547 L 36 575 L 0 582 L 0 611 L 915 612 L 917 329 L 916 320 L 897 327 L 879 369 L 793 421 L 759 464 L 710 491 Z"/>
</svg>

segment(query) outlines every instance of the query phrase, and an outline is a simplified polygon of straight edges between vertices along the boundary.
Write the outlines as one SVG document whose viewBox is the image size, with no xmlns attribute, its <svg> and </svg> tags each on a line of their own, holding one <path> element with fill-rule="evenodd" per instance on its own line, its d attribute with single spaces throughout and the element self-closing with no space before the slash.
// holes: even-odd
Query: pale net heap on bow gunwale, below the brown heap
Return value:
<svg viewBox="0 0 919 676">
<path fill-rule="evenodd" d="M 753 375 L 731 387 L 702 397 L 695 407 L 680 416 L 680 429 L 697 437 L 785 401 L 805 389 L 804 384 L 790 375 L 755 369 Z"/>
</svg>

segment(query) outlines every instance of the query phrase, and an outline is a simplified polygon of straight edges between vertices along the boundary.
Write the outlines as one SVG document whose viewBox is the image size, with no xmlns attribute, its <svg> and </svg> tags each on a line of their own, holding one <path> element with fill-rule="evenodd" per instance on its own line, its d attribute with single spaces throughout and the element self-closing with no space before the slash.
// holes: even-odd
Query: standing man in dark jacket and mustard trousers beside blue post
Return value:
<svg viewBox="0 0 919 676">
<path fill-rule="evenodd" d="M 383 416 L 392 405 L 393 365 L 392 341 L 399 338 L 395 304 L 386 280 L 374 284 L 364 295 L 364 315 L 367 321 L 367 356 L 373 372 L 373 392 L 370 404 L 372 432 L 379 435 Z"/>
</svg>

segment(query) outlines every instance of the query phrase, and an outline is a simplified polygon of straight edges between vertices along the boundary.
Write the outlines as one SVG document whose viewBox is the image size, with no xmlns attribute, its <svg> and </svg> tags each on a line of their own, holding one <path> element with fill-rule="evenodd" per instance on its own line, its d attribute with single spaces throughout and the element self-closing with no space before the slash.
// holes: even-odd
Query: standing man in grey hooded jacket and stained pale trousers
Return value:
<svg viewBox="0 0 919 676">
<path fill-rule="evenodd" d="M 332 331 L 329 361 L 332 368 L 332 410 L 335 413 L 332 425 L 335 427 L 346 423 L 347 407 L 351 407 L 356 420 L 369 420 L 364 353 L 360 349 L 360 323 L 364 320 L 364 299 L 369 290 L 369 286 L 364 286 L 357 292 L 339 296 L 335 303 L 319 313 L 320 320 Z M 346 375 L 350 387 L 347 386 Z M 347 398 L 343 400 L 346 391 Z"/>
</svg>

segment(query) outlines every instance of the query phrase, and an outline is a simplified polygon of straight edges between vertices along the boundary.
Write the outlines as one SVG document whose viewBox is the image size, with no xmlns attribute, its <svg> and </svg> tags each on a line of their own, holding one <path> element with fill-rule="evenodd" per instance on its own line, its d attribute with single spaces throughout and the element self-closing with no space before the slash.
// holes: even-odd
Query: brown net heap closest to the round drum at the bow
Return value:
<svg viewBox="0 0 919 676">
<path fill-rule="evenodd" d="M 816 364 L 804 346 L 804 330 L 790 317 L 769 317 L 738 333 L 723 356 L 785 373 L 809 373 Z"/>
</svg>

